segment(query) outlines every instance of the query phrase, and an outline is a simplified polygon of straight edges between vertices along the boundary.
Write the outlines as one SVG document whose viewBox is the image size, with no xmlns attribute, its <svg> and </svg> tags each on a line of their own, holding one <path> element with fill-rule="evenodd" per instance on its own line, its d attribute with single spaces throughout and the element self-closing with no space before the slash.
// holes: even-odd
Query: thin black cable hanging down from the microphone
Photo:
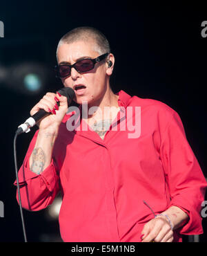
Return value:
<svg viewBox="0 0 207 256">
<path fill-rule="evenodd" d="M 24 225 L 24 220 L 23 220 L 23 212 L 22 212 L 22 206 L 21 206 L 21 196 L 20 196 L 20 189 L 19 189 L 19 178 L 18 178 L 18 167 L 17 167 L 17 149 L 16 149 L 16 144 L 17 144 L 17 136 L 19 133 L 16 132 L 14 136 L 14 164 L 15 164 L 15 172 L 16 172 L 16 178 L 17 178 L 17 191 L 18 191 L 18 197 L 19 197 L 19 208 L 20 208 L 20 213 L 21 213 L 21 223 L 22 223 L 22 228 L 23 228 L 23 237 L 24 241 L 27 242 L 27 237 L 26 237 L 26 228 Z"/>
</svg>

